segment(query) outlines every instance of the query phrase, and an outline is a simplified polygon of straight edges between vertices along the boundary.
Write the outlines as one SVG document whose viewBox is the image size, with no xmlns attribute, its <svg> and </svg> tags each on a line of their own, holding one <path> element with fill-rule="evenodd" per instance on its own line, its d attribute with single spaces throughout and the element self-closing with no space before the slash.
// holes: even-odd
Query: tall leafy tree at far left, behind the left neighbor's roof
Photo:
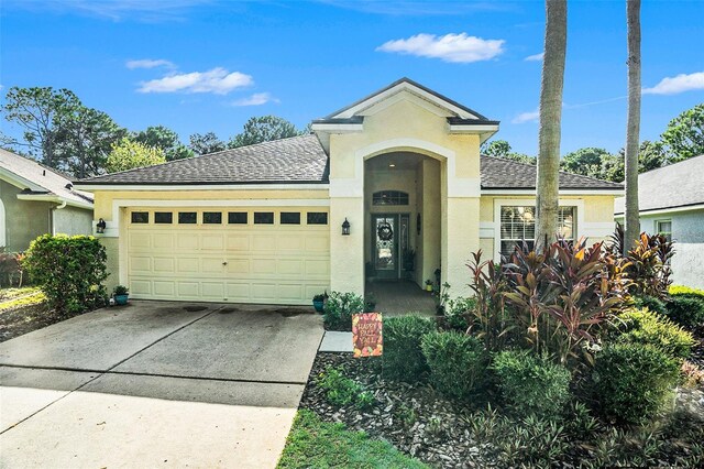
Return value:
<svg viewBox="0 0 704 469">
<path fill-rule="evenodd" d="M 20 88 L 13 86 L 2 106 L 4 118 L 23 129 L 23 142 L 2 135 L 9 146 L 21 146 L 50 167 L 59 168 L 56 154 L 57 118 L 80 102 L 68 89 L 52 87 Z"/>
</svg>

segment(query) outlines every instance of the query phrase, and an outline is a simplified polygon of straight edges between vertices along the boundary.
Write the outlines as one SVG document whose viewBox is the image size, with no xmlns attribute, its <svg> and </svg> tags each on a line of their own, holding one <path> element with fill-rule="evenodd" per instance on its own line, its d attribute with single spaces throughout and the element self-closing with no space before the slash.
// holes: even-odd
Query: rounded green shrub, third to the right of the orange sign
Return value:
<svg viewBox="0 0 704 469">
<path fill-rule="evenodd" d="M 558 416 L 570 399 L 570 372 L 528 350 L 505 350 L 492 362 L 498 390 L 517 415 Z"/>
</svg>

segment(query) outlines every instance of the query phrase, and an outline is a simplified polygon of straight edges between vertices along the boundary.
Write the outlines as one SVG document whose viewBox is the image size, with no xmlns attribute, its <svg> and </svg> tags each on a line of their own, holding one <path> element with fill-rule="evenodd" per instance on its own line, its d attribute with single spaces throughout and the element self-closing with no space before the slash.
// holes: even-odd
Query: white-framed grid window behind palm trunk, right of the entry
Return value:
<svg viewBox="0 0 704 469">
<path fill-rule="evenodd" d="M 536 243 L 536 207 L 502 206 L 499 252 L 509 255 L 524 241 L 532 249 Z M 576 236 L 576 207 L 559 207 L 558 233 L 566 241 Z"/>
</svg>

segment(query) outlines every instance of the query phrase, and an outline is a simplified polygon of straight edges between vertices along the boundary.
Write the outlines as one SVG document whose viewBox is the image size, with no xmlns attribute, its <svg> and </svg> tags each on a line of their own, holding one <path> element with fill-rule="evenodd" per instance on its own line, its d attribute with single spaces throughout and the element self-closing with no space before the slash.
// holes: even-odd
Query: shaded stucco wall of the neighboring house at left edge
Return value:
<svg viewBox="0 0 704 469">
<path fill-rule="evenodd" d="M 0 198 L 6 216 L 6 250 L 24 251 L 40 234 L 51 232 L 50 210 L 55 204 L 19 200 L 20 189 L 0 181 Z"/>
</svg>

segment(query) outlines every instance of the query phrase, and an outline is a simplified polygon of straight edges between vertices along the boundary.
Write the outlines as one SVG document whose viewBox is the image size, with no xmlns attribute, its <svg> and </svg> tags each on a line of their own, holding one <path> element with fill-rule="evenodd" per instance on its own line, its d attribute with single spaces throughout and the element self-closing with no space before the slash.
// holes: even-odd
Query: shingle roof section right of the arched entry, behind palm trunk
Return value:
<svg viewBox="0 0 704 469">
<path fill-rule="evenodd" d="M 537 166 L 513 160 L 482 155 L 483 189 L 535 189 Z M 560 172 L 560 189 L 619 190 L 617 183 Z"/>
</svg>

